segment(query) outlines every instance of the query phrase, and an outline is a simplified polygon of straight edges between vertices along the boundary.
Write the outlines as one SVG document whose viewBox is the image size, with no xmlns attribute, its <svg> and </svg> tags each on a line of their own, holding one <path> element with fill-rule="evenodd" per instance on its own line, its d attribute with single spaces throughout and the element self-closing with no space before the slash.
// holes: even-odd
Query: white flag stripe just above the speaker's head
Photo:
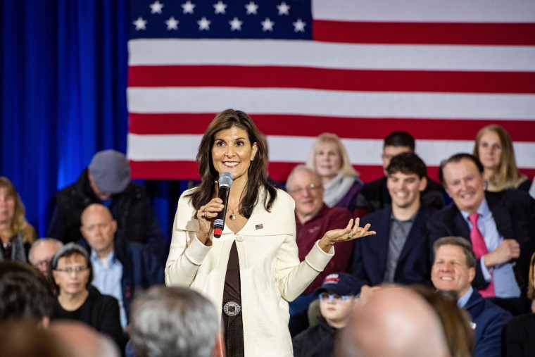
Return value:
<svg viewBox="0 0 535 357">
<path fill-rule="evenodd" d="M 127 89 L 130 113 L 280 113 L 372 118 L 534 120 L 535 95 L 347 92 L 314 89 Z"/>
</svg>

